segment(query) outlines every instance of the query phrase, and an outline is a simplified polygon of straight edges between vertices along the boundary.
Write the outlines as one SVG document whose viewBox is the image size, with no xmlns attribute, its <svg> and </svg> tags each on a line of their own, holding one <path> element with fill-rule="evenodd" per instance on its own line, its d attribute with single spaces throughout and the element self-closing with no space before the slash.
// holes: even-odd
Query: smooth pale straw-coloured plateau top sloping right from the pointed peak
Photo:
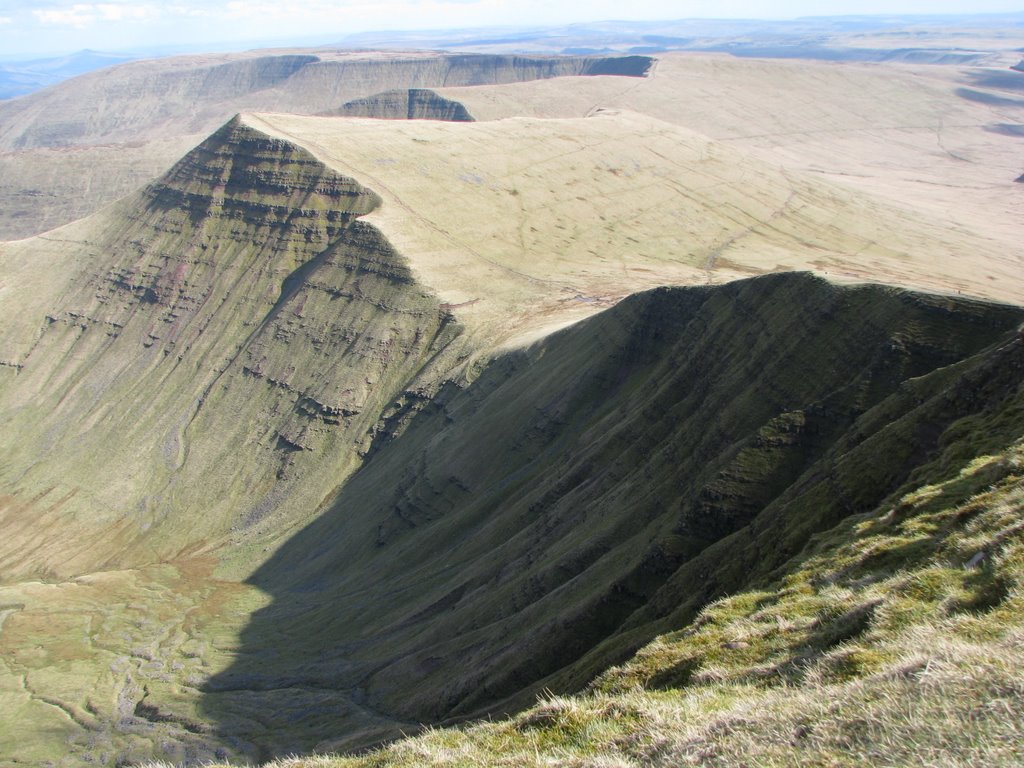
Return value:
<svg viewBox="0 0 1024 768">
<path fill-rule="evenodd" d="M 1001 244 L 636 113 L 245 119 L 377 191 L 368 221 L 487 338 L 539 337 L 645 288 L 767 271 L 1024 295 Z"/>
</svg>

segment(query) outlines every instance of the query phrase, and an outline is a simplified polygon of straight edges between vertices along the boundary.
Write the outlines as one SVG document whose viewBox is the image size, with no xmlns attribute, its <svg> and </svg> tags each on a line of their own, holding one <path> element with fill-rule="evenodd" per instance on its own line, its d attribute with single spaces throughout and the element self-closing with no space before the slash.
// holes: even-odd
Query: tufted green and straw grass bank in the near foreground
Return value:
<svg viewBox="0 0 1024 768">
<path fill-rule="evenodd" d="M 1024 441 L 816 537 L 573 696 L 274 768 L 1024 764 Z"/>
</svg>

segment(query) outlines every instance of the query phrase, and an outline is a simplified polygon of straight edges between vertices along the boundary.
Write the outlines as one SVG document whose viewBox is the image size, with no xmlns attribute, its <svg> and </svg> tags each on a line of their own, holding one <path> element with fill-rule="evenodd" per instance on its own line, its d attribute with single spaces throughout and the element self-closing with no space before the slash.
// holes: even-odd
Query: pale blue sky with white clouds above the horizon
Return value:
<svg viewBox="0 0 1024 768">
<path fill-rule="evenodd" d="M 0 0 L 0 57 L 603 19 L 1024 11 L 1024 0 Z"/>
</svg>

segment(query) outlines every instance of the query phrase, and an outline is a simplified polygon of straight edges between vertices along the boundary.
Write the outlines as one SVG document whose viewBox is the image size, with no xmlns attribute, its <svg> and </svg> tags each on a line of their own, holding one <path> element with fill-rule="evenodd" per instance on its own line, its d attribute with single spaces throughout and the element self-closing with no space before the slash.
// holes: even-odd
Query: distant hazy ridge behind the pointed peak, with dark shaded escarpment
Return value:
<svg viewBox="0 0 1024 768">
<path fill-rule="evenodd" d="M 134 191 L 239 112 L 314 114 L 411 87 L 642 77 L 650 61 L 313 48 L 175 56 L 87 74 L 0 102 L 0 237 L 39 233 Z"/>
</svg>

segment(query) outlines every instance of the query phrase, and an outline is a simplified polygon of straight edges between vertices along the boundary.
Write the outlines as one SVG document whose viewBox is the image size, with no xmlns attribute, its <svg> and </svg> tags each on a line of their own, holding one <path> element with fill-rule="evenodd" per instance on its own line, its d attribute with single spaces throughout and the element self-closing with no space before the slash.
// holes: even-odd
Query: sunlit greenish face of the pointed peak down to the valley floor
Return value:
<svg viewBox="0 0 1024 768">
<path fill-rule="evenodd" d="M 232 123 L 132 199 L 0 248 L 3 760 L 225 754 L 199 688 L 265 600 L 197 550 L 266 557 L 458 335 L 352 221 L 376 202 Z"/>
</svg>

